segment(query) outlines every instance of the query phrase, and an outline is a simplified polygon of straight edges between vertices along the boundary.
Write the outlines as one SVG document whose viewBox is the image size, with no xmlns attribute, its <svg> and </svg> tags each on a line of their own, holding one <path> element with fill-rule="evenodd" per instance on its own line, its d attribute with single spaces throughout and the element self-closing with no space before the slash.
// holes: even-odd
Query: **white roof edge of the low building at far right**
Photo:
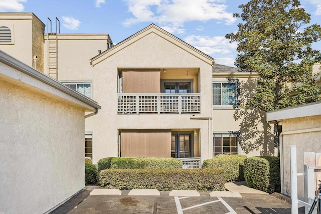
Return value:
<svg viewBox="0 0 321 214">
<path fill-rule="evenodd" d="M 266 112 L 268 122 L 321 115 L 321 101 Z"/>
</svg>

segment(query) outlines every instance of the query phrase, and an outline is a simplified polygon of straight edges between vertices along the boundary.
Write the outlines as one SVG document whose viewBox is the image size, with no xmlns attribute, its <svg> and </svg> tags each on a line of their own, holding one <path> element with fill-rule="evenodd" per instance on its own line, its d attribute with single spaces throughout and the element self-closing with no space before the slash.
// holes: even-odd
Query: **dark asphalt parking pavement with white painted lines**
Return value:
<svg viewBox="0 0 321 214">
<path fill-rule="evenodd" d="M 52 213 L 291 213 L 291 204 L 268 194 L 241 193 L 242 197 L 236 198 L 211 197 L 209 192 L 200 192 L 200 196 L 169 196 L 165 191 L 156 196 L 87 192 L 79 193 L 88 195 L 85 199 L 76 195 Z"/>
</svg>

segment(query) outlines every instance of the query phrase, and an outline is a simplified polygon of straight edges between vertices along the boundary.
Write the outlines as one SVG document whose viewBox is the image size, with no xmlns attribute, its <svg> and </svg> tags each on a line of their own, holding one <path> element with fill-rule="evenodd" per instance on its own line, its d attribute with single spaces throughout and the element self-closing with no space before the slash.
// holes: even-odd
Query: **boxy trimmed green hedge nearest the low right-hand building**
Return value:
<svg viewBox="0 0 321 214">
<path fill-rule="evenodd" d="M 244 176 L 249 187 L 268 193 L 280 192 L 280 158 L 269 156 L 246 158 Z"/>
</svg>

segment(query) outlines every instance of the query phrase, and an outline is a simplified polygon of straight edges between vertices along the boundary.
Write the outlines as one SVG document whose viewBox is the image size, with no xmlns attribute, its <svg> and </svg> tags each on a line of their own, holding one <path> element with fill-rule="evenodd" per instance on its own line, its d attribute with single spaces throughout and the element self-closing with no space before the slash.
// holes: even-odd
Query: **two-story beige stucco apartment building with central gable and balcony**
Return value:
<svg viewBox="0 0 321 214">
<path fill-rule="evenodd" d="M 0 14 L 0 26 L 12 30 L 15 44 L 22 35 L 10 23 L 22 21 L 12 17 L 27 16 L 44 32 L 32 13 L 14 14 Z M 199 167 L 217 154 L 272 152 L 264 115 L 241 105 L 257 75 L 217 65 L 153 24 L 116 45 L 108 34 L 46 31 L 37 42 L 30 47 L 40 45 L 43 53 L 28 57 L 29 65 L 102 106 L 85 125 L 85 155 L 94 163 L 108 156 L 176 157 Z M 0 49 L 15 56 L 15 44 L 0 42 Z"/>
</svg>

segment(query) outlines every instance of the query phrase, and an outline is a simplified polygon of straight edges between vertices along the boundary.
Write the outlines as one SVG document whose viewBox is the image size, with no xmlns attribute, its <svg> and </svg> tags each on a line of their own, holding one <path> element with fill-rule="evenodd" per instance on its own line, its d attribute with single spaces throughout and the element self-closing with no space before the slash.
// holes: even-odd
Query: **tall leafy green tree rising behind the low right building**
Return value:
<svg viewBox="0 0 321 214">
<path fill-rule="evenodd" d="M 272 111 L 321 100 L 312 65 L 321 60 L 311 44 L 321 39 L 321 27 L 309 25 L 310 15 L 298 0 L 251 0 L 240 5 L 238 32 L 226 39 L 238 42 L 235 65 L 259 75 L 247 108 Z M 304 28 L 304 26 L 307 26 Z M 278 147 L 274 124 L 274 155 Z"/>
</svg>

